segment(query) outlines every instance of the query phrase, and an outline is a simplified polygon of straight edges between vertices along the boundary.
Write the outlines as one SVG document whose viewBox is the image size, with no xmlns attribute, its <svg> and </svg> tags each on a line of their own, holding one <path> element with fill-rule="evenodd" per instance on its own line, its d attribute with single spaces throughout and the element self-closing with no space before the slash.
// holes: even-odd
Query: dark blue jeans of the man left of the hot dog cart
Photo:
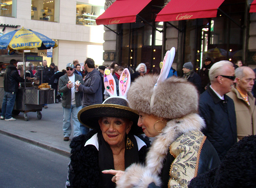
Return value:
<svg viewBox="0 0 256 188">
<path fill-rule="evenodd" d="M 12 110 L 15 103 L 16 92 L 5 92 L 5 96 L 2 104 L 2 114 L 5 119 L 10 119 L 12 117 Z"/>
</svg>

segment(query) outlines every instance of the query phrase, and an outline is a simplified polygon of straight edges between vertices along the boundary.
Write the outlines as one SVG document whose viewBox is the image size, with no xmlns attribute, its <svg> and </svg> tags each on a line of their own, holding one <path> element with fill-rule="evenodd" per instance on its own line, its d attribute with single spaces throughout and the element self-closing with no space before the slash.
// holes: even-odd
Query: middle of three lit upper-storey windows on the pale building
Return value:
<svg viewBox="0 0 256 188">
<path fill-rule="evenodd" d="M 32 0 L 31 19 L 59 21 L 59 0 Z"/>
</svg>

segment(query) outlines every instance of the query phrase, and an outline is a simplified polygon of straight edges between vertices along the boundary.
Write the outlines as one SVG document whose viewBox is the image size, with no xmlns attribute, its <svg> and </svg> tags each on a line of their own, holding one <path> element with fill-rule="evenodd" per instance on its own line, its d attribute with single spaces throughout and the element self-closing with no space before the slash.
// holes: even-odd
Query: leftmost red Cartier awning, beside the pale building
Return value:
<svg viewBox="0 0 256 188">
<path fill-rule="evenodd" d="M 132 23 L 136 21 L 136 15 L 152 0 L 116 0 L 98 18 L 97 25 Z"/>
</svg>

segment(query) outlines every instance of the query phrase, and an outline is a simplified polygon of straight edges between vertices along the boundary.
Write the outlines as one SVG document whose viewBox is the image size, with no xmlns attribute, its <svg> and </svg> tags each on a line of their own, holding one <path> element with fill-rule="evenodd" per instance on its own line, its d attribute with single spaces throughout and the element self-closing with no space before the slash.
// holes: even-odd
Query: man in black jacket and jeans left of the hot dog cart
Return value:
<svg viewBox="0 0 256 188">
<path fill-rule="evenodd" d="M 2 104 L 1 119 L 5 121 L 15 121 L 12 117 L 12 110 L 16 99 L 16 93 L 18 91 L 19 82 L 24 82 L 24 79 L 19 76 L 17 70 L 17 61 L 12 59 L 10 65 L 5 70 L 4 75 L 4 90 L 5 96 Z"/>
</svg>

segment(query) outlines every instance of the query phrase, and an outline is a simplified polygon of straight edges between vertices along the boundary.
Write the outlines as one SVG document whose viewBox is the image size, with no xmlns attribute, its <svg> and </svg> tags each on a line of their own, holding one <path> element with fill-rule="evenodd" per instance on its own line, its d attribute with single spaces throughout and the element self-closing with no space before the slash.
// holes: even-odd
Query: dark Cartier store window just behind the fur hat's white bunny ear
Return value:
<svg viewBox="0 0 256 188">
<path fill-rule="evenodd" d="M 160 73 L 159 63 L 162 61 L 162 33 L 163 22 L 156 22 L 155 30 L 143 22 L 122 24 L 122 66 L 132 69 L 140 63 L 147 68 Z"/>
</svg>

